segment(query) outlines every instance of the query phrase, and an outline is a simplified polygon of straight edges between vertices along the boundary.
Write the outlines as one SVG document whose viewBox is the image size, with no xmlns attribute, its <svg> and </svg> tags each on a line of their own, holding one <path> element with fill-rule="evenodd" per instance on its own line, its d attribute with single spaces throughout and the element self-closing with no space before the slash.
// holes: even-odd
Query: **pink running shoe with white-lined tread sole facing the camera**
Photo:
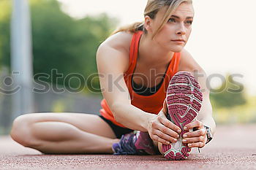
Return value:
<svg viewBox="0 0 256 170">
<path fill-rule="evenodd" d="M 180 138 L 176 143 L 162 144 L 162 152 L 169 160 L 184 160 L 191 148 L 182 143 L 184 126 L 197 117 L 203 101 L 199 83 L 190 72 L 177 72 L 170 80 L 166 94 L 167 119 L 181 128 Z"/>
</svg>

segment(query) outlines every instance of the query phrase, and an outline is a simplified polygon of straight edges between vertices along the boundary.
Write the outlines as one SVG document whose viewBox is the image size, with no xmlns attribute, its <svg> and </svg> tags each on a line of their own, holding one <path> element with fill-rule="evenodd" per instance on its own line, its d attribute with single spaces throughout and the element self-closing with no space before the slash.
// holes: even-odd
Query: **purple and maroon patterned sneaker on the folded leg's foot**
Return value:
<svg viewBox="0 0 256 170">
<path fill-rule="evenodd" d="M 147 132 L 136 131 L 121 136 L 113 144 L 113 155 L 154 155 L 154 144 Z"/>
</svg>

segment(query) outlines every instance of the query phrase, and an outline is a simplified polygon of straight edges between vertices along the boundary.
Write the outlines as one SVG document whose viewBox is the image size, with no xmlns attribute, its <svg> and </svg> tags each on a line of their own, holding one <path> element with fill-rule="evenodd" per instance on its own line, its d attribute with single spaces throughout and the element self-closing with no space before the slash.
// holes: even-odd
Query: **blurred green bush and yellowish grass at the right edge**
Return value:
<svg viewBox="0 0 256 170">
<path fill-rule="evenodd" d="M 256 123 L 256 96 L 249 96 L 232 74 L 227 74 L 219 87 L 211 89 L 210 98 L 217 123 Z"/>
</svg>

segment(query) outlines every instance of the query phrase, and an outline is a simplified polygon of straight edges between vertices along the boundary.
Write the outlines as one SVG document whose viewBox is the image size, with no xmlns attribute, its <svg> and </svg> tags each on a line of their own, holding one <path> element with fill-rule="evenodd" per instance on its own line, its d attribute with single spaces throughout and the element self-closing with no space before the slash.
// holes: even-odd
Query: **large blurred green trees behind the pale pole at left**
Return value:
<svg viewBox="0 0 256 170">
<path fill-rule="evenodd" d="M 97 47 L 116 28 L 118 20 L 105 14 L 75 20 L 61 11 L 56 0 L 31 0 L 30 6 L 34 74 L 48 74 L 50 77 L 43 81 L 66 87 L 83 88 L 86 83 L 87 88 L 99 89 L 98 79 L 92 83 L 82 81 L 80 85 L 78 79 L 64 81 L 64 77 L 68 74 L 80 74 L 85 80 L 96 77 Z M 0 65 L 10 68 L 11 1 L 0 1 L 0 9 Z M 53 69 L 63 75 L 52 77 Z"/>
</svg>

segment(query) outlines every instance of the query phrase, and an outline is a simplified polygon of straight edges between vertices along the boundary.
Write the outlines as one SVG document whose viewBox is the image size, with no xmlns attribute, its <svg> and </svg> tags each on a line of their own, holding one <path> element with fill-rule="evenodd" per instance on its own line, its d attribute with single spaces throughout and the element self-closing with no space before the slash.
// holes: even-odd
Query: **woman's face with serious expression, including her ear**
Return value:
<svg viewBox="0 0 256 170">
<path fill-rule="evenodd" d="M 152 20 L 152 32 L 156 31 L 162 21 L 167 8 L 160 9 L 157 16 Z M 163 28 L 154 36 L 154 42 L 160 47 L 173 52 L 181 52 L 187 44 L 190 33 L 192 31 L 192 21 L 194 17 L 194 9 L 192 4 L 182 3 L 175 12 L 170 16 L 169 20 Z"/>
</svg>

